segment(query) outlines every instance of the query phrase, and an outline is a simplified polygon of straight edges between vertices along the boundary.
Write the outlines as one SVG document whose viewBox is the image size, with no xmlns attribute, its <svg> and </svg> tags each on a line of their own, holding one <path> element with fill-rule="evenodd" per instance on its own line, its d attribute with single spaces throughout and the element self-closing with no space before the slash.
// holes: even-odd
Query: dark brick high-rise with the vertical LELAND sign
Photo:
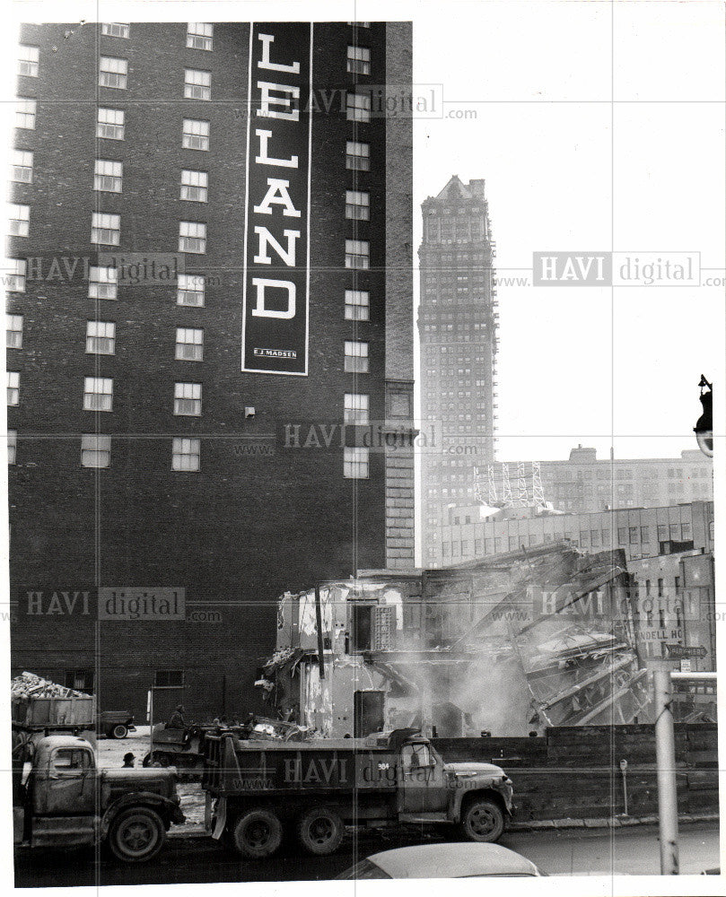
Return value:
<svg viewBox="0 0 726 897">
<path fill-rule="evenodd" d="M 23 26 L 13 672 L 241 713 L 285 589 L 413 564 L 413 458 L 361 438 L 413 426 L 411 121 L 379 98 L 411 48 L 407 22 Z"/>
</svg>

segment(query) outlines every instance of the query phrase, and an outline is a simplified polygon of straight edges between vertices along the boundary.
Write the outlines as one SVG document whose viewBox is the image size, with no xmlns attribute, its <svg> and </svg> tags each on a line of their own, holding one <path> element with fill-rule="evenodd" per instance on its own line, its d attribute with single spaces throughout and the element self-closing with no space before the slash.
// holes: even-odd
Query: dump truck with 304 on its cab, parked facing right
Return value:
<svg viewBox="0 0 726 897">
<path fill-rule="evenodd" d="M 489 763 L 444 763 L 417 729 L 304 742 L 207 735 L 206 830 L 246 858 L 264 858 L 284 830 L 319 856 L 346 826 L 458 825 L 495 841 L 512 815 L 512 781 Z"/>
</svg>

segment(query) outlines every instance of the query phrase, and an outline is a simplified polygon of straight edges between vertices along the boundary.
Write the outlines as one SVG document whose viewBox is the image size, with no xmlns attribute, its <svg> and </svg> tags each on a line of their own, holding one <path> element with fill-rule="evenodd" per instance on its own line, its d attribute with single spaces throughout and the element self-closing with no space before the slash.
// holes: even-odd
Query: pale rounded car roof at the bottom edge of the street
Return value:
<svg viewBox="0 0 726 897">
<path fill-rule="evenodd" d="M 416 844 L 368 858 L 391 878 L 467 878 L 476 875 L 539 875 L 529 859 L 500 844 L 464 841 Z"/>
</svg>

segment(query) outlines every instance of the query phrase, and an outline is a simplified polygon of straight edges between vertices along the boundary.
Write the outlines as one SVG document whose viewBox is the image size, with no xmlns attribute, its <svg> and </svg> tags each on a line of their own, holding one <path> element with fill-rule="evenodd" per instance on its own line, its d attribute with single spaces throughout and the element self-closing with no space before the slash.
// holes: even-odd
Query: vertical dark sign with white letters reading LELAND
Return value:
<svg viewBox="0 0 726 897">
<path fill-rule="evenodd" d="M 308 373 L 312 24 L 250 26 L 242 370 Z"/>
</svg>

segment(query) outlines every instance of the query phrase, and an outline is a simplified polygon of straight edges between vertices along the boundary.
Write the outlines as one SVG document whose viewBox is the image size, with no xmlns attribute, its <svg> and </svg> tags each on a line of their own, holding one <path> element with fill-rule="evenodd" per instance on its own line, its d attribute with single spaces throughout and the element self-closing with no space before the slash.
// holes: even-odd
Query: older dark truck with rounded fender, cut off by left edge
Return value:
<svg viewBox="0 0 726 897">
<path fill-rule="evenodd" d="M 171 823 L 183 822 L 171 771 L 99 770 L 92 745 L 68 735 L 17 742 L 13 749 L 17 847 L 101 842 L 116 858 L 141 863 L 162 849 Z"/>
</svg>

